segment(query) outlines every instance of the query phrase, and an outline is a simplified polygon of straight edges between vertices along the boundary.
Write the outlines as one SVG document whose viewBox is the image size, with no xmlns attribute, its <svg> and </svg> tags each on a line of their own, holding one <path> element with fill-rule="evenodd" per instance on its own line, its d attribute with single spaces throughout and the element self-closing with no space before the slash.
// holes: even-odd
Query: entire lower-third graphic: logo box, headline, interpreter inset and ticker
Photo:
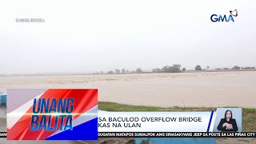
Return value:
<svg viewBox="0 0 256 144">
<path fill-rule="evenodd" d="M 205 112 L 98 111 L 96 89 L 7 90 L 7 140 L 254 138 L 242 132 L 241 108 Z"/>
</svg>

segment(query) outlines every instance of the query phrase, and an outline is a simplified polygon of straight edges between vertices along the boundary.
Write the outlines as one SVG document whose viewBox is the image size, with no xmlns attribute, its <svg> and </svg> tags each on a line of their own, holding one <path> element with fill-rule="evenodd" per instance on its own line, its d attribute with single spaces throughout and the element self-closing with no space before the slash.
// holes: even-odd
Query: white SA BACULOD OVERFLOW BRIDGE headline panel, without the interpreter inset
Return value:
<svg viewBox="0 0 256 144">
<path fill-rule="evenodd" d="M 100 112 L 99 132 L 207 132 L 211 112 Z M 213 126 L 211 130 L 213 130 Z"/>
</svg>

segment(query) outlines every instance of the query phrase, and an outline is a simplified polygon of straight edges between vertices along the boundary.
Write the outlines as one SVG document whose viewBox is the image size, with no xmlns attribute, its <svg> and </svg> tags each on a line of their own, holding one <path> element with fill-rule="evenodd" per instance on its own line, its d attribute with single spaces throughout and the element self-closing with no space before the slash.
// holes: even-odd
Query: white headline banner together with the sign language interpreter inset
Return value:
<svg viewBox="0 0 256 144">
<path fill-rule="evenodd" d="M 146 132 L 145 136 L 148 136 L 148 132 L 241 131 L 241 108 L 218 108 L 217 111 L 206 112 L 100 111 L 98 114 L 98 132 L 101 132 L 99 134 L 101 137 L 107 136 L 108 132 L 110 132 L 109 134 L 111 132 L 127 132 L 127 134 L 129 132 Z"/>
</svg>

